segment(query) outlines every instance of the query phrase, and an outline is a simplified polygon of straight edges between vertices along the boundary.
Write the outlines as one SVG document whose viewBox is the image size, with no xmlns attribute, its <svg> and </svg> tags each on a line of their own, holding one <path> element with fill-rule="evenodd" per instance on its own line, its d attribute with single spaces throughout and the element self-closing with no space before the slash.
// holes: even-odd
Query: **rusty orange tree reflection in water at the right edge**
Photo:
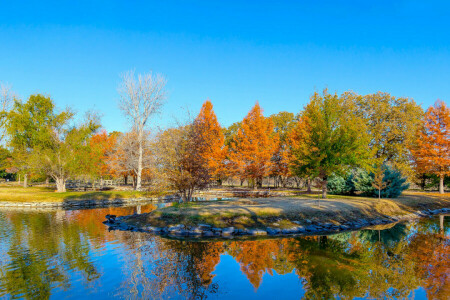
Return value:
<svg viewBox="0 0 450 300">
<path fill-rule="evenodd" d="M 450 295 L 449 237 L 440 233 L 417 233 L 411 237 L 409 250 L 428 298 L 446 299 Z"/>
</svg>

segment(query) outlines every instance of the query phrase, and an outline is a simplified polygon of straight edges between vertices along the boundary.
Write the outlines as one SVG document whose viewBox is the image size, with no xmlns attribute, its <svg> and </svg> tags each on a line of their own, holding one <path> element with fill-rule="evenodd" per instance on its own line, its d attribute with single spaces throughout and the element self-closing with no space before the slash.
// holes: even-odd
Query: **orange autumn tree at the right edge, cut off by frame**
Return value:
<svg viewBox="0 0 450 300">
<path fill-rule="evenodd" d="M 444 177 L 450 175 L 450 109 L 438 100 L 428 108 L 417 133 L 414 155 L 420 173 L 439 176 L 439 193 L 444 193 Z"/>
</svg>

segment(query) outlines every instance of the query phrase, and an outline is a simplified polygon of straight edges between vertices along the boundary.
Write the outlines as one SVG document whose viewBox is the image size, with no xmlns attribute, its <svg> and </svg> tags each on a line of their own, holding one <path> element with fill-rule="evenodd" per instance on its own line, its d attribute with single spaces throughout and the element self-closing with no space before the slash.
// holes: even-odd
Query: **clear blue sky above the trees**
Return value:
<svg viewBox="0 0 450 300">
<path fill-rule="evenodd" d="M 159 123 L 298 112 L 315 90 L 450 96 L 448 1 L 0 1 L 0 81 L 125 130 L 119 74 L 168 79 Z"/>
</svg>

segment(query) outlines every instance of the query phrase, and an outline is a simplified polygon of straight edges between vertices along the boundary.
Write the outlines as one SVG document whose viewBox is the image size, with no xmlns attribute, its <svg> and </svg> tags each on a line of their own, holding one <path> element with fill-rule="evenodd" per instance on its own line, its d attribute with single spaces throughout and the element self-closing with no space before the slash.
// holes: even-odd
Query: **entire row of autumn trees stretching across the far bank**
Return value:
<svg viewBox="0 0 450 300">
<path fill-rule="evenodd" d="M 1 85 L 2 169 L 21 175 L 25 186 L 30 176 L 51 178 L 58 192 L 68 179 L 130 177 L 137 190 L 145 180 L 186 200 L 229 178 L 255 189 L 267 178 L 281 187 L 305 182 L 323 198 L 345 182 L 353 190 L 365 182 L 366 192 L 389 197 L 406 179 L 423 188 L 438 181 L 440 193 L 449 181 L 450 110 L 442 101 L 423 111 L 413 99 L 388 93 L 324 90 L 297 114 L 266 117 L 256 102 L 224 128 L 207 100 L 195 118 L 158 129 L 151 122 L 167 98 L 165 84 L 161 75 L 122 76 L 119 107 L 130 124 L 123 133 L 107 133 L 95 114 L 75 121 L 49 96 L 22 101 Z"/>
</svg>

